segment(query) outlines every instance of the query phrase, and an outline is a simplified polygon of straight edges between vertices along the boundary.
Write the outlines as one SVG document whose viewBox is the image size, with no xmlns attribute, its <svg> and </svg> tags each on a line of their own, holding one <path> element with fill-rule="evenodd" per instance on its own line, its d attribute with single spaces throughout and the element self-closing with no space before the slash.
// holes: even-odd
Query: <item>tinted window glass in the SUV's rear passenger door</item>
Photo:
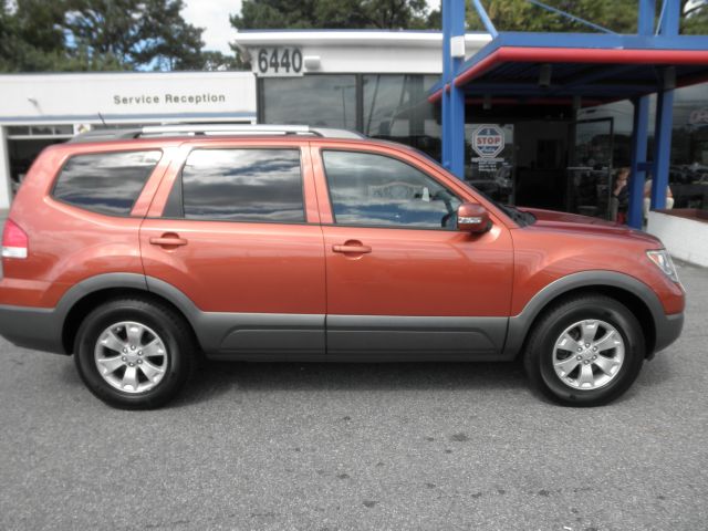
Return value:
<svg viewBox="0 0 708 531">
<path fill-rule="evenodd" d="M 181 179 L 188 219 L 305 220 L 299 149 L 195 149 Z"/>
</svg>

